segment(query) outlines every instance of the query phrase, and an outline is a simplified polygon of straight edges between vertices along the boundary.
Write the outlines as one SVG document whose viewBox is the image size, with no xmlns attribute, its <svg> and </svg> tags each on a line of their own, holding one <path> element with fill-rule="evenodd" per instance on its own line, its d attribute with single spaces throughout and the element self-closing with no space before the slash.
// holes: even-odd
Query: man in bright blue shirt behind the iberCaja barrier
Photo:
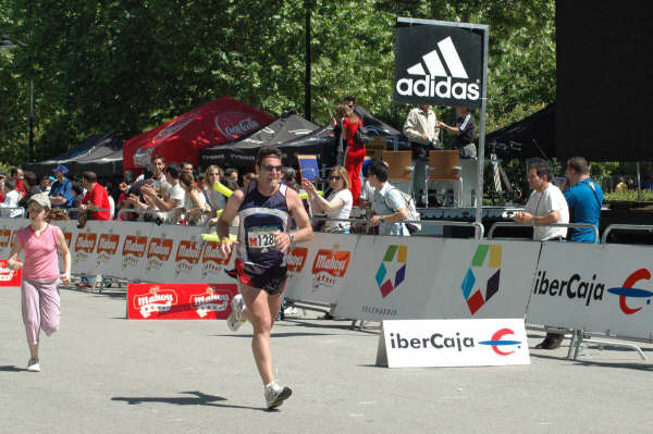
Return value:
<svg viewBox="0 0 653 434">
<path fill-rule="evenodd" d="M 582 157 L 574 157 L 567 161 L 567 179 L 569 187 L 563 191 L 569 211 L 572 212 L 574 223 L 588 223 L 599 227 L 603 190 L 590 178 L 590 165 Z M 594 232 L 591 228 L 575 227 L 571 232 L 574 243 L 593 243 Z"/>
</svg>

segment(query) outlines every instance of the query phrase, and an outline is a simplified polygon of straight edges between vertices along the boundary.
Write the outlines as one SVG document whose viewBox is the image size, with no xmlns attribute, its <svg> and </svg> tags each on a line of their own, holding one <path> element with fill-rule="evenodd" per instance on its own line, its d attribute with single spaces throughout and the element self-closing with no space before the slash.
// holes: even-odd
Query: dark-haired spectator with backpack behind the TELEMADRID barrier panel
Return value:
<svg viewBox="0 0 653 434">
<path fill-rule="evenodd" d="M 368 179 L 374 188 L 371 226 L 379 226 L 379 235 L 410 236 L 402 221 L 408 220 L 408 209 L 402 193 L 387 182 L 390 169 L 381 160 L 370 165 Z"/>
</svg>

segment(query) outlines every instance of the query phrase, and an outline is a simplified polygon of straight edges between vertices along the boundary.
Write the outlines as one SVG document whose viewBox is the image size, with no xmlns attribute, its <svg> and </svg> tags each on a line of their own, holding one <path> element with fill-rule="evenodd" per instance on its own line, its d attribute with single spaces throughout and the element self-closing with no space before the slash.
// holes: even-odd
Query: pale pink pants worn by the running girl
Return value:
<svg viewBox="0 0 653 434">
<path fill-rule="evenodd" d="M 27 334 L 27 344 L 38 344 L 38 335 L 42 328 L 50 336 L 59 330 L 61 319 L 61 298 L 57 284 L 51 281 L 30 281 L 23 278 L 23 323 Z"/>
</svg>

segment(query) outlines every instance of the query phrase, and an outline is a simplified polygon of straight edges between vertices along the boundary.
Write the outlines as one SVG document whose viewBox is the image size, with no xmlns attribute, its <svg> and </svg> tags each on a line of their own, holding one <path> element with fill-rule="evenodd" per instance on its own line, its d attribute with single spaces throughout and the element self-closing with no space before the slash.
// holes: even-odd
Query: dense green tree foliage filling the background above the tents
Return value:
<svg viewBox="0 0 653 434">
<path fill-rule="evenodd" d="M 0 0 L 2 33 L 28 45 L 0 54 L 0 161 L 26 159 L 29 79 L 39 160 L 91 134 L 127 139 L 226 95 L 303 113 L 307 5 L 313 122 L 350 94 L 401 128 L 408 107 L 392 102 L 393 28 L 415 16 L 490 25 L 490 132 L 555 100 L 554 4 Z"/>
</svg>

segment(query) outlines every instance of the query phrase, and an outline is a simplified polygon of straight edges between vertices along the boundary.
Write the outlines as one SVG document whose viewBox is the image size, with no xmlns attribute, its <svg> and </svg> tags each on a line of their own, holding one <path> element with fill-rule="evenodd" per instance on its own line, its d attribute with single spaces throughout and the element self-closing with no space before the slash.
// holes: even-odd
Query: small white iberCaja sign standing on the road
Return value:
<svg viewBox="0 0 653 434">
<path fill-rule="evenodd" d="M 530 364 L 523 319 L 383 321 L 377 364 L 389 368 Z"/>
</svg>

